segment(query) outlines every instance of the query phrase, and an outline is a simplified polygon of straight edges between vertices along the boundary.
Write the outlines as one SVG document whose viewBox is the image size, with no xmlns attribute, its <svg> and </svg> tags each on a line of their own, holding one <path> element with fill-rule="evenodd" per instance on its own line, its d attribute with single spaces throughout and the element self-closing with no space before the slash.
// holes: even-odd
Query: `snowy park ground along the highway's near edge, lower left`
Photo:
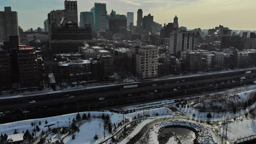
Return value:
<svg viewBox="0 0 256 144">
<path fill-rule="evenodd" d="M 79 114 L 82 116 L 83 114 L 87 114 L 88 112 L 80 112 Z M 95 133 L 98 134 L 98 140 L 102 141 L 104 136 L 103 132 L 104 129 L 103 127 L 99 125 L 103 125 L 103 121 L 100 118 L 93 118 L 93 117 L 101 117 L 102 113 L 105 115 L 110 116 L 110 120 L 112 124 L 118 124 L 123 120 L 123 114 L 117 114 L 117 113 L 112 113 L 112 112 L 90 112 L 91 114 L 91 119 L 90 121 L 84 120 L 84 124 L 80 127 L 80 132 L 76 132 L 76 138 L 75 140 L 72 140 L 71 137 L 67 137 L 64 139 L 64 141 L 68 144 L 91 144 L 95 142 L 93 139 Z M 148 117 L 156 117 L 156 114 L 158 113 L 159 117 L 165 115 L 172 115 L 173 112 L 168 109 L 168 108 L 156 108 L 153 110 L 145 110 L 144 115 L 147 115 Z M 14 130 L 16 129 L 19 133 L 22 131 L 29 130 L 30 133 L 32 134 L 33 126 L 31 126 L 32 122 L 39 123 L 39 121 L 42 122 L 41 125 L 38 124 L 39 128 L 47 131 L 48 128 L 44 128 L 45 125 L 49 124 L 55 124 L 51 126 L 51 128 L 57 128 L 57 122 L 59 121 L 59 127 L 69 127 L 69 118 L 70 118 L 70 124 L 72 123 L 72 119 L 75 118 L 77 113 L 73 114 L 68 114 L 68 115 L 60 115 L 60 116 L 55 116 L 55 117 L 49 117 L 49 118 L 38 118 L 38 119 L 31 119 L 31 120 L 25 120 L 25 121 L 16 121 L 16 122 L 11 122 L 11 123 L 6 123 L 6 124 L 0 124 L 0 133 L 6 133 L 7 135 L 13 134 Z M 143 111 L 138 111 L 134 113 L 129 113 L 125 114 L 124 117 L 128 118 L 130 121 L 134 117 L 142 117 L 143 116 Z M 45 124 L 45 121 L 48 121 L 48 124 Z M 40 132 L 39 132 L 40 133 Z M 39 135 L 37 133 L 37 135 Z M 108 131 L 105 130 L 105 137 L 110 136 Z"/>
</svg>

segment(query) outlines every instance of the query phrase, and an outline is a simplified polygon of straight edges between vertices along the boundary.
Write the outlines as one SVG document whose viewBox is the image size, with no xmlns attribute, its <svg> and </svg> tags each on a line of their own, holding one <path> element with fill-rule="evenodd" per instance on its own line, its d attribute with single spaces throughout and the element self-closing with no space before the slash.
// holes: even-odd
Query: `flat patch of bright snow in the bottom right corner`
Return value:
<svg viewBox="0 0 256 144">
<path fill-rule="evenodd" d="M 219 131 L 222 133 L 223 127 L 219 127 Z M 231 140 L 251 134 L 256 134 L 256 120 L 244 118 L 243 121 L 236 120 L 228 124 L 227 136 Z"/>
</svg>

